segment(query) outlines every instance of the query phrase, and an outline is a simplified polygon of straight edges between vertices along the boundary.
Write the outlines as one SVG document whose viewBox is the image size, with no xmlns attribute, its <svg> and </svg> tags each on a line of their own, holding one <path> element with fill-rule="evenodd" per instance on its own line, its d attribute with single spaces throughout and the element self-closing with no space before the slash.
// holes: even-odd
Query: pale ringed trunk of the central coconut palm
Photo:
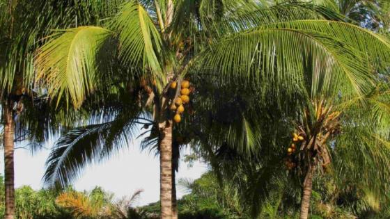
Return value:
<svg viewBox="0 0 390 219">
<path fill-rule="evenodd" d="M 172 218 L 172 120 L 161 124 L 160 136 L 160 202 L 161 218 Z"/>
</svg>

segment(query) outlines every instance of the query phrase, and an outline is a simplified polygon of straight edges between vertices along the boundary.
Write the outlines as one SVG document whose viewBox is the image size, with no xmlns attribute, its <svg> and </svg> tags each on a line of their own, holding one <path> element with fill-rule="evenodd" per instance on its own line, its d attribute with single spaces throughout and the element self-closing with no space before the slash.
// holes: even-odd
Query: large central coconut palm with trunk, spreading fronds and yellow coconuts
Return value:
<svg viewBox="0 0 390 219">
<path fill-rule="evenodd" d="M 182 82 L 188 85 L 184 79 L 208 72 L 272 90 L 279 98 L 282 93 L 304 93 L 309 68 L 315 95 L 340 87 L 343 97 L 355 97 L 370 88 L 357 83 L 370 78 L 373 68 L 387 65 L 390 44 L 342 19 L 324 6 L 308 3 L 269 7 L 259 1 L 129 1 L 103 26 L 59 31 L 36 56 L 37 80 L 45 83 L 50 97 L 80 108 L 92 95 L 104 106 L 107 97 L 125 90 L 125 95 L 138 97 L 133 106 L 141 107 L 123 109 L 118 120 L 98 126 L 102 129 L 80 129 L 78 136 L 91 133 L 98 144 L 81 149 L 79 158 L 64 159 L 75 144 L 62 143 L 65 147 L 49 160 L 55 168 L 48 178 L 66 182 L 77 176 L 86 161 L 114 148 L 118 138 L 104 136 L 115 121 L 123 127 L 115 128 L 115 136 L 123 136 L 148 111 L 158 133 L 162 218 L 176 218 L 172 134 L 173 119 L 179 122 L 181 116 L 172 108 L 188 101 L 187 95 L 180 97 Z M 318 90 L 320 85 L 323 90 Z M 107 140 L 111 144 L 103 145 Z"/>
</svg>

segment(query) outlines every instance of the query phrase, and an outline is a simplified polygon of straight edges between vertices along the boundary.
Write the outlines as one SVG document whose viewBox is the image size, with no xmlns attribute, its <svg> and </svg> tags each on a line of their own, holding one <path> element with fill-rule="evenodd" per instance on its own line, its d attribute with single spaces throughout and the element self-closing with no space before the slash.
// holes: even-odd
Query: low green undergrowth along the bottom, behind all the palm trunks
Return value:
<svg viewBox="0 0 390 219">
<path fill-rule="evenodd" d="M 0 177 L 0 188 L 3 186 Z M 213 172 L 196 180 L 180 179 L 179 187 L 188 194 L 178 200 L 178 215 L 183 219 L 251 218 L 249 208 L 240 201 L 233 185 L 219 184 Z M 259 218 L 298 218 L 299 196 L 288 189 L 288 184 L 274 188 Z M 314 183 L 310 218 L 390 218 L 389 192 L 378 199 L 372 193 L 351 186 L 338 192 L 336 186 L 319 178 Z M 16 189 L 17 219 L 157 219 L 159 202 L 134 206 L 142 191 L 128 197 L 114 198 L 114 194 L 96 187 L 91 191 L 41 189 L 29 186 Z M 3 195 L 0 195 L 0 218 L 4 214 Z"/>
</svg>

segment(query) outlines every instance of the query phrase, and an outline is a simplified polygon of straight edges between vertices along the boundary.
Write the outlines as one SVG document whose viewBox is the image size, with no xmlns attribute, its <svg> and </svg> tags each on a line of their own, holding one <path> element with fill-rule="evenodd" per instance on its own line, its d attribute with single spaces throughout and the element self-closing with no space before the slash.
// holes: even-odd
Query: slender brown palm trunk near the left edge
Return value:
<svg viewBox="0 0 390 219">
<path fill-rule="evenodd" d="M 15 215 L 15 172 L 14 172 L 14 132 L 13 102 L 8 102 L 4 107 L 4 184 L 6 192 L 6 217 L 13 219 Z"/>
</svg>

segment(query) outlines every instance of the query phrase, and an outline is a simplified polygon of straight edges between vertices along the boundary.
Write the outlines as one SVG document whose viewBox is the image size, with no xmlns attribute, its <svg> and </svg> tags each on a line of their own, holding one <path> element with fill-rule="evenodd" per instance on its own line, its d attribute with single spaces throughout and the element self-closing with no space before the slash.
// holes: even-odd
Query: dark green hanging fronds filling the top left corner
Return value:
<svg viewBox="0 0 390 219">
<path fill-rule="evenodd" d="M 13 92 L 18 77 L 24 88 L 34 88 L 33 52 L 53 29 L 104 24 L 102 18 L 114 15 L 123 1 L 4 1 L 0 6 L 1 93 Z"/>
</svg>

